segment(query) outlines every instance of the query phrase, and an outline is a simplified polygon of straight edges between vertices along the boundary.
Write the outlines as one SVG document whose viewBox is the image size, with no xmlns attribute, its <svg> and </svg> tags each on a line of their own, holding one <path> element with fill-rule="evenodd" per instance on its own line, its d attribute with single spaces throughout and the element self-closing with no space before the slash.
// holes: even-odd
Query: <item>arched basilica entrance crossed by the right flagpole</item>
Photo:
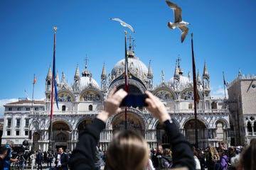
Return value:
<svg viewBox="0 0 256 170">
<path fill-rule="evenodd" d="M 195 130 L 195 120 L 188 120 L 188 122 L 184 125 L 185 136 L 191 144 L 196 143 L 196 130 Z M 203 140 L 207 140 L 207 128 L 200 120 L 198 120 L 198 147 L 206 147 L 203 146 Z"/>
</svg>

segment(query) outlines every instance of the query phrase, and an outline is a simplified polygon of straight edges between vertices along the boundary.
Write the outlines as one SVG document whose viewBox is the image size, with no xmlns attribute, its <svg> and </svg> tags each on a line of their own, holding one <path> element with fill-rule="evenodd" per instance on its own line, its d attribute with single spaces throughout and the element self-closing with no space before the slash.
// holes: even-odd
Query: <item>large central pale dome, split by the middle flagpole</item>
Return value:
<svg viewBox="0 0 256 170">
<path fill-rule="evenodd" d="M 139 79 L 145 79 L 148 74 L 148 68 L 138 57 L 128 58 L 128 69 L 129 72 Z M 124 59 L 117 62 L 111 72 L 114 77 L 122 73 L 124 73 Z"/>
</svg>

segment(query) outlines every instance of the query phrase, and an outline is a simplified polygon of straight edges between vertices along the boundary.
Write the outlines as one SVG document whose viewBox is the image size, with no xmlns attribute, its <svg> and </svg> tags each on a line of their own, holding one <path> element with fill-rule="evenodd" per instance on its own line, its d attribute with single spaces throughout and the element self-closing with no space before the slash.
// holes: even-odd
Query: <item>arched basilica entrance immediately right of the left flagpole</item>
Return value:
<svg viewBox="0 0 256 170">
<path fill-rule="evenodd" d="M 53 148 L 58 149 L 63 147 L 63 149 L 69 149 L 68 140 L 71 138 L 70 127 L 67 123 L 63 121 L 56 121 L 53 123 Z"/>
</svg>

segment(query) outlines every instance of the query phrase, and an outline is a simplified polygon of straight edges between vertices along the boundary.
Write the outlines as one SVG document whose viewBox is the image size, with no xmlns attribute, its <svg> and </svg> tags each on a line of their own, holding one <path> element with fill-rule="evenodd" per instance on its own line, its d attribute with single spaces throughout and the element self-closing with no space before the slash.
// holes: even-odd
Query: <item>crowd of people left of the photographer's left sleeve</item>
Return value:
<svg viewBox="0 0 256 170">
<path fill-rule="evenodd" d="M 13 143 L 8 141 L 6 145 L 0 147 L 0 170 L 9 169 L 56 169 L 68 170 L 68 162 L 71 152 L 67 149 L 64 152 L 63 147 L 58 151 L 41 152 L 14 152 Z M 43 164 L 46 166 L 43 167 Z"/>
</svg>

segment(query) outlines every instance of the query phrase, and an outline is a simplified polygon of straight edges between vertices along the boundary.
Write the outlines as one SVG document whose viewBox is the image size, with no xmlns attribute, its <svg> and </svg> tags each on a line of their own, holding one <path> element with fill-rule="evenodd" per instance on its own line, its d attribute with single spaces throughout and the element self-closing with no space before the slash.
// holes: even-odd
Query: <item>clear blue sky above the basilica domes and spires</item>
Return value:
<svg viewBox="0 0 256 170">
<path fill-rule="evenodd" d="M 183 20 L 191 23 L 181 43 L 181 32 L 170 30 L 174 14 L 164 0 L 148 1 L 0 1 L 0 100 L 31 98 L 36 74 L 34 99 L 45 98 L 45 79 L 53 60 L 53 26 L 57 26 L 56 69 L 73 84 L 75 68 L 87 66 L 100 84 L 105 62 L 107 73 L 124 58 L 124 28 L 110 18 L 121 18 L 132 25 L 135 55 L 154 72 L 154 84 L 161 81 L 161 70 L 168 81 L 181 57 L 184 74 L 191 72 L 193 33 L 196 69 L 203 73 L 206 62 L 212 96 L 224 96 L 226 81 L 255 72 L 255 0 L 174 0 L 183 9 Z M 1 113 L 0 113 L 1 114 Z"/>
</svg>

